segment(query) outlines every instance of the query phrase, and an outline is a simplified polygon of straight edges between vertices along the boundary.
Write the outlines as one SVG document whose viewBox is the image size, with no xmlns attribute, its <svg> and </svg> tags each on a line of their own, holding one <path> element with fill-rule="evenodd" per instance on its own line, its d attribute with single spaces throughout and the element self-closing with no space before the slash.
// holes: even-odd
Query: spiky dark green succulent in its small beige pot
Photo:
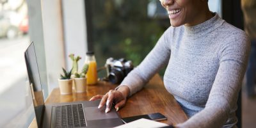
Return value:
<svg viewBox="0 0 256 128">
<path fill-rule="evenodd" d="M 60 74 L 60 79 L 58 79 L 59 86 L 60 86 L 60 93 L 61 95 L 66 95 L 72 93 L 72 79 L 71 79 L 71 72 L 72 69 L 68 72 L 65 68 L 62 68 L 63 75 Z"/>
</svg>

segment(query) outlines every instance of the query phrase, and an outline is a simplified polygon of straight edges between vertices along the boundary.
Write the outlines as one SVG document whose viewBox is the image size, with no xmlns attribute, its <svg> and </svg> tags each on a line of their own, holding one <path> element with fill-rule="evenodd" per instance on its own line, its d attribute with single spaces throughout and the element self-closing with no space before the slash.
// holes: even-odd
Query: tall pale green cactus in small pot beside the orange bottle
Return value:
<svg viewBox="0 0 256 128">
<path fill-rule="evenodd" d="M 81 71 L 78 70 L 78 61 L 81 60 L 80 56 L 74 56 L 70 54 L 69 57 L 73 61 L 72 63 L 72 77 L 74 78 L 74 85 L 77 93 L 86 92 L 86 72 L 88 70 L 88 65 L 84 64 Z"/>
</svg>

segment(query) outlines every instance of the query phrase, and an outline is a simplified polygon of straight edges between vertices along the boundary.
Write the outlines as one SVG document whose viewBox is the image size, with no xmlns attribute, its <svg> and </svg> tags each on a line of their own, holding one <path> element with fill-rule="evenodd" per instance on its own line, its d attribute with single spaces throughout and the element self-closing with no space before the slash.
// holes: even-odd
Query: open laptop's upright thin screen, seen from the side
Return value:
<svg viewBox="0 0 256 128">
<path fill-rule="evenodd" d="M 40 81 L 40 74 L 36 61 L 35 46 L 32 42 L 25 51 L 26 67 L 28 70 L 29 83 L 35 107 L 36 122 L 41 124 L 41 118 L 44 113 L 44 95 Z"/>
</svg>

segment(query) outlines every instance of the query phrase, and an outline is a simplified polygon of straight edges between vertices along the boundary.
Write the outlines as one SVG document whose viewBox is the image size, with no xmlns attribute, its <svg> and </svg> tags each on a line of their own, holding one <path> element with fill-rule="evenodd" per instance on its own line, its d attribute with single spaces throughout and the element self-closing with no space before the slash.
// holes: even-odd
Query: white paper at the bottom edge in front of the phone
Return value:
<svg viewBox="0 0 256 128">
<path fill-rule="evenodd" d="M 153 120 L 148 120 L 145 118 L 141 118 L 140 120 L 135 120 L 133 122 L 129 122 L 124 125 L 120 125 L 115 128 L 154 128 L 154 127 L 164 127 L 168 126 L 167 124 L 161 123 L 161 122 L 156 122 Z"/>
</svg>

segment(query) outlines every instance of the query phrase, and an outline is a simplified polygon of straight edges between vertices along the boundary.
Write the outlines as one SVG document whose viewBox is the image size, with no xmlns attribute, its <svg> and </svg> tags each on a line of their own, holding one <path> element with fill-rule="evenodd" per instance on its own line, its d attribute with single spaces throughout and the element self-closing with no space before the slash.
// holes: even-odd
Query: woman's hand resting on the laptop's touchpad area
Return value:
<svg viewBox="0 0 256 128">
<path fill-rule="evenodd" d="M 120 86 L 118 90 L 109 90 L 105 95 L 95 95 L 90 100 L 101 99 L 98 108 L 102 108 L 106 104 L 106 113 L 110 111 L 112 104 L 115 103 L 115 109 L 118 111 L 119 108 L 125 105 L 129 92 L 130 90 L 127 86 Z"/>
</svg>

